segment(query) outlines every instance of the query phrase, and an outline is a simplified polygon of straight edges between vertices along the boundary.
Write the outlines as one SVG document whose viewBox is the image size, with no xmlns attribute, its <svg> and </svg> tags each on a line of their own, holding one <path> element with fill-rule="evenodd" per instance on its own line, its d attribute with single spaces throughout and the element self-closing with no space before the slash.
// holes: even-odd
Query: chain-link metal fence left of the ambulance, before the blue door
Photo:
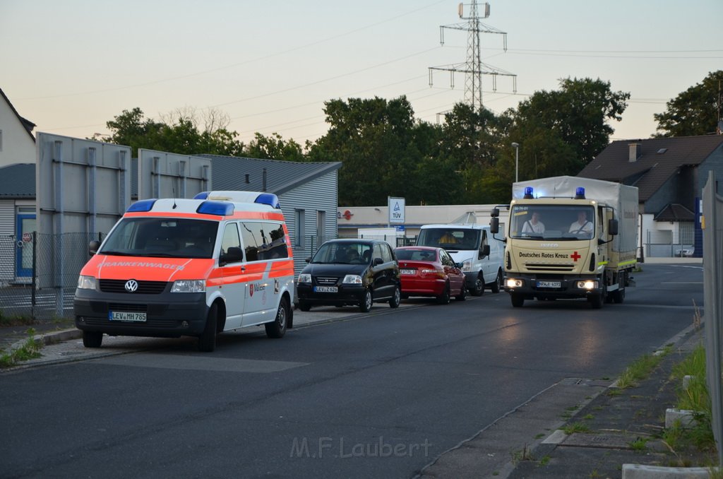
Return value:
<svg viewBox="0 0 723 479">
<path fill-rule="evenodd" d="M 93 239 L 100 234 L 0 237 L 0 316 L 72 318 L 78 274 Z"/>
</svg>

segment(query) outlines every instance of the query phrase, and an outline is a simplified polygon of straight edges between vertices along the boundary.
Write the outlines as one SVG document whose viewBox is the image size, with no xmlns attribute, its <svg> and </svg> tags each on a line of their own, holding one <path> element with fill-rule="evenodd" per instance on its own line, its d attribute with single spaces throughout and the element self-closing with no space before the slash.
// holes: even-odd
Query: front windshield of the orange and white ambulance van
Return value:
<svg viewBox="0 0 723 479">
<path fill-rule="evenodd" d="M 147 258 L 211 258 L 217 231 L 217 221 L 124 218 L 98 253 Z"/>
</svg>

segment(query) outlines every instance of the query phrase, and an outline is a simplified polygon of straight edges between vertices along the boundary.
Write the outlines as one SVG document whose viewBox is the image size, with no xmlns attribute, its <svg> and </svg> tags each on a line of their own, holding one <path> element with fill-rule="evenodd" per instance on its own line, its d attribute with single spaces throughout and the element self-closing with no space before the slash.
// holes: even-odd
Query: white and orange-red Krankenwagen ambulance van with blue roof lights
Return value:
<svg viewBox="0 0 723 479">
<path fill-rule="evenodd" d="M 85 347 L 111 336 L 197 336 L 293 326 L 294 259 L 276 195 L 202 192 L 133 203 L 80 271 L 73 302 Z"/>
</svg>

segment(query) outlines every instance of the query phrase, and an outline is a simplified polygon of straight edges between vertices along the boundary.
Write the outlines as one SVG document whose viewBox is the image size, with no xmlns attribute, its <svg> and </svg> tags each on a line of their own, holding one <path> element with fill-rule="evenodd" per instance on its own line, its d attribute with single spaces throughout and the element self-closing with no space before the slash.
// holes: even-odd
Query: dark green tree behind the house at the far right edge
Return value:
<svg viewBox="0 0 723 479">
<path fill-rule="evenodd" d="M 720 119 L 723 70 L 710 72 L 702 82 L 666 103 L 664 113 L 653 115 L 659 131 L 656 137 L 709 135 Z"/>
</svg>

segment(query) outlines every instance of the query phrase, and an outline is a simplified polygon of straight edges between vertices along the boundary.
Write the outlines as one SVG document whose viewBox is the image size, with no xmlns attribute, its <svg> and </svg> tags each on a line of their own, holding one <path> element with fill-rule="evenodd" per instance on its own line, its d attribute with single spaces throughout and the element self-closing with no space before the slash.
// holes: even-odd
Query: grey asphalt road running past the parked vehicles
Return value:
<svg viewBox="0 0 723 479">
<path fill-rule="evenodd" d="M 693 322 L 702 278 L 645 265 L 601 310 L 486 292 L 281 340 L 226 334 L 210 354 L 179 340 L 3 373 L 0 477 L 414 477 L 552 384 L 614 378 L 664 344 Z"/>
</svg>

